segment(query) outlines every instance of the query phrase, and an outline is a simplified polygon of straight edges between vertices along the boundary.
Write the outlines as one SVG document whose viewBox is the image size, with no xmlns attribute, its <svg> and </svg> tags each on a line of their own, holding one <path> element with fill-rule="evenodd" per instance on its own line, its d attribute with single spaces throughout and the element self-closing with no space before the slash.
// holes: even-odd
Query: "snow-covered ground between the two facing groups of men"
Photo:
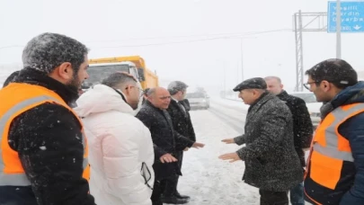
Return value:
<svg viewBox="0 0 364 205">
<path fill-rule="evenodd" d="M 211 98 L 208 111 L 191 111 L 196 137 L 206 147 L 184 154 L 179 191 L 191 196 L 188 205 L 259 204 L 258 189 L 242 181 L 244 162 L 230 164 L 218 159 L 239 148 L 221 139 L 244 133 L 248 108 L 243 102 Z"/>
</svg>

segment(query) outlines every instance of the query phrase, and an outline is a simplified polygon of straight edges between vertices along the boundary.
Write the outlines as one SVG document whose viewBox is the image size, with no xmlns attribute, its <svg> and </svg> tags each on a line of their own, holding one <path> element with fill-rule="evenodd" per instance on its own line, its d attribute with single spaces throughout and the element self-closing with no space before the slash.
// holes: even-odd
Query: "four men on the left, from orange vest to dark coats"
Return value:
<svg viewBox="0 0 364 205">
<path fill-rule="evenodd" d="M 183 151 L 204 147 L 183 101 L 188 85 L 145 92 L 120 72 L 79 96 L 87 52 L 67 36 L 40 34 L 5 81 L 0 204 L 187 203 L 177 192 Z"/>
</svg>

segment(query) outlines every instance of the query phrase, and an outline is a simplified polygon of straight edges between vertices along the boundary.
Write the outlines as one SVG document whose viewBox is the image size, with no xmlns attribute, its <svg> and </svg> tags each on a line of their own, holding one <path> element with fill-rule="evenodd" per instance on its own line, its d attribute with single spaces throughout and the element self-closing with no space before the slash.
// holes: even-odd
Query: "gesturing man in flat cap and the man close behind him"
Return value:
<svg viewBox="0 0 364 205">
<path fill-rule="evenodd" d="M 223 142 L 245 144 L 235 153 L 220 156 L 244 160 L 243 180 L 259 188 L 262 205 L 304 205 L 303 149 L 310 147 L 313 125 L 306 103 L 287 94 L 280 78 L 255 77 L 236 85 L 235 92 L 249 104 L 244 134 Z"/>
</svg>

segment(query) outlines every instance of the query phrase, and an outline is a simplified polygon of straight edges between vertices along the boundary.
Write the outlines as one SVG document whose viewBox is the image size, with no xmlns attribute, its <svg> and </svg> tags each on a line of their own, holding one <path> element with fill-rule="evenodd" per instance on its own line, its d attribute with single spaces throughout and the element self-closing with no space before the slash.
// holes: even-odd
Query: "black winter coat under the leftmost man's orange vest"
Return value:
<svg viewBox="0 0 364 205">
<path fill-rule="evenodd" d="M 22 69 L 15 83 L 44 86 L 66 103 L 77 98 L 66 85 L 34 69 Z M 15 118 L 9 130 L 9 146 L 18 152 L 31 186 L 1 186 L 0 204 L 95 204 L 82 178 L 84 146 L 80 136 L 79 120 L 55 103 L 40 104 Z M 42 146 L 47 149 L 40 149 Z"/>
</svg>

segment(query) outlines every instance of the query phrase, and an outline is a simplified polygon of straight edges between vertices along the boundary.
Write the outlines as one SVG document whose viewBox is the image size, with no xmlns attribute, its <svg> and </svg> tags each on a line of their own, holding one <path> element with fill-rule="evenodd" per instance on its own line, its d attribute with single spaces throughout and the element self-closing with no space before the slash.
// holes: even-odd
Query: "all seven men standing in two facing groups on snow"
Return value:
<svg viewBox="0 0 364 205">
<path fill-rule="evenodd" d="M 120 72 L 79 97 L 87 53 L 77 40 L 40 34 L 0 90 L 0 205 L 187 203 L 177 191 L 183 152 L 204 147 L 184 101 L 187 85 L 145 92 Z M 244 161 L 243 180 L 259 188 L 262 205 L 287 205 L 288 192 L 297 205 L 364 204 L 364 84 L 342 59 L 306 75 L 324 103 L 314 136 L 305 102 L 279 77 L 256 77 L 234 88 L 250 105 L 244 134 L 222 140 L 245 146 L 219 157 Z"/>
</svg>

